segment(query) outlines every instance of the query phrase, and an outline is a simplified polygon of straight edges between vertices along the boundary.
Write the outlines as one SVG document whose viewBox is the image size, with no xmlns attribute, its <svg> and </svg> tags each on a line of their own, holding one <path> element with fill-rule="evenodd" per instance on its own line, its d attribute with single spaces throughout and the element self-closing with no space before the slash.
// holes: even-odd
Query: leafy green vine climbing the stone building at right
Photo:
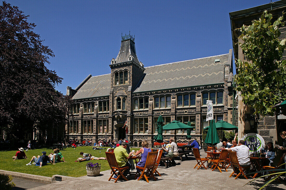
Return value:
<svg viewBox="0 0 286 190">
<path fill-rule="evenodd" d="M 272 14 L 264 11 L 252 25 L 238 29 L 243 40 L 239 45 L 247 61 L 235 60 L 236 89 L 243 102 L 263 116 L 273 116 L 273 106 L 286 99 L 286 60 L 281 60 L 286 40 L 279 40 L 283 16 L 272 24 Z"/>
</svg>

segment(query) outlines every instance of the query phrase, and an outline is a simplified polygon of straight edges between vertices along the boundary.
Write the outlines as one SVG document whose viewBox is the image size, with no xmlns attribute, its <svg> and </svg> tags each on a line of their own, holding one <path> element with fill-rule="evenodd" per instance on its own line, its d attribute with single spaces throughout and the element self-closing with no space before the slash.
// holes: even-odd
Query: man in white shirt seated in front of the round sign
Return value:
<svg viewBox="0 0 286 190">
<path fill-rule="evenodd" d="M 235 151 L 239 165 L 245 167 L 250 165 L 249 148 L 244 145 L 244 140 L 238 142 L 238 146 L 227 149 L 227 151 Z"/>
</svg>

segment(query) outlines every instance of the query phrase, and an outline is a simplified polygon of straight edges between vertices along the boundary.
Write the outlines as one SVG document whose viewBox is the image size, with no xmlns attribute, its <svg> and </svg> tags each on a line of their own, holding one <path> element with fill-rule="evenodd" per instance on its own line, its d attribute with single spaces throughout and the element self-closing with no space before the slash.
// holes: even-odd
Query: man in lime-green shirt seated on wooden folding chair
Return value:
<svg viewBox="0 0 286 190">
<path fill-rule="evenodd" d="M 118 163 L 118 166 L 119 167 L 126 167 L 126 166 L 129 167 L 123 173 L 125 176 L 128 175 L 130 167 L 131 167 L 131 164 L 128 163 L 126 161 L 126 159 L 129 159 L 131 157 L 132 153 L 133 153 L 133 152 L 130 152 L 128 154 L 127 151 L 126 151 L 126 147 L 127 147 L 127 143 L 126 142 L 122 142 L 120 146 L 118 146 L 118 147 L 116 147 L 114 149 L 114 155 L 115 155 L 116 161 Z"/>
</svg>

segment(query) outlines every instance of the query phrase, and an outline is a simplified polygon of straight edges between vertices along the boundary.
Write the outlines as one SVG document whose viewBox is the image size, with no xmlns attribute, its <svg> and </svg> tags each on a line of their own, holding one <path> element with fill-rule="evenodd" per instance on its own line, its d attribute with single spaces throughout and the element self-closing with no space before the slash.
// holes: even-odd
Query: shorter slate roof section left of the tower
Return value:
<svg viewBox="0 0 286 190">
<path fill-rule="evenodd" d="M 73 96 L 73 99 L 109 96 L 111 74 L 90 77 Z"/>
</svg>

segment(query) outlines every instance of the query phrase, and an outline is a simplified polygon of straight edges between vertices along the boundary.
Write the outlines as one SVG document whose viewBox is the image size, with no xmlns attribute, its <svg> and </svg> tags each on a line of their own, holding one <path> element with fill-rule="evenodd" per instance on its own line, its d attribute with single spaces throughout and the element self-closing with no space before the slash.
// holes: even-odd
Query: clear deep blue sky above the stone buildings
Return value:
<svg viewBox="0 0 286 190">
<path fill-rule="evenodd" d="M 229 12 L 269 0 L 6 2 L 37 25 L 35 33 L 55 54 L 47 67 L 63 78 L 56 89 L 65 94 L 89 74 L 110 73 L 121 33 L 135 34 L 145 67 L 226 54 L 233 48 Z"/>
</svg>

